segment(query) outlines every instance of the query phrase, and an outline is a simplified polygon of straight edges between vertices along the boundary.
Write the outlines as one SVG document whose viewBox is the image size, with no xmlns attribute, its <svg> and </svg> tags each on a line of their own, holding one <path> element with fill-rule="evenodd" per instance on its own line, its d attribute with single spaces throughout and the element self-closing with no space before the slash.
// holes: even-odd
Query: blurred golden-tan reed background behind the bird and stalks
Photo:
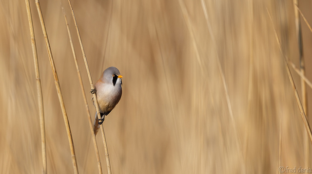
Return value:
<svg viewBox="0 0 312 174">
<path fill-rule="evenodd" d="M 306 159 L 311 153 L 306 155 L 304 148 L 306 142 L 311 147 L 311 142 L 306 141 L 274 37 L 275 28 L 285 54 L 298 66 L 292 0 L 205 0 L 210 25 L 202 2 L 72 1 L 93 81 L 110 66 L 124 77 L 122 98 L 104 122 L 113 173 L 273 174 L 279 165 L 312 168 Z M 67 1 L 62 3 L 94 117 L 75 26 Z M 40 4 L 78 169 L 80 174 L 96 174 L 95 151 L 60 4 L 58 0 Z M 312 2 L 299 0 L 299 7 L 312 23 Z M 70 174 L 68 140 L 34 0 L 31 9 L 44 97 L 48 173 Z M 312 80 L 312 34 L 303 20 L 301 24 L 306 74 Z M 300 78 L 293 70 L 292 75 L 300 93 Z M 39 174 L 36 79 L 23 0 L 0 1 L 0 78 L 0 173 Z M 312 90 L 307 89 L 312 99 Z M 309 100 L 309 108 L 311 104 Z M 97 140 L 107 173 L 99 134 Z"/>
</svg>

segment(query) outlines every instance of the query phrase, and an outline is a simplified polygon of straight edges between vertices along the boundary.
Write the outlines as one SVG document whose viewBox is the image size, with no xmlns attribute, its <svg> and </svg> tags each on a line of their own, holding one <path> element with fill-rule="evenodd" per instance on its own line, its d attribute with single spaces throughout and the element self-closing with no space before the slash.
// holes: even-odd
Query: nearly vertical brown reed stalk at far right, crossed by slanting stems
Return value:
<svg viewBox="0 0 312 174">
<path fill-rule="evenodd" d="M 293 10 L 294 10 L 294 16 L 295 16 L 295 25 L 296 25 L 296 34 L 297 34 L 297 40 L 298 40 L 298 48 L 299 48 L 299 65 L 300 65 L 300 71 L 302 74 L 305 75 L 305 67 L 304 67 L 304 57 L 303 57 L 303 43 L 302 43 L 302 31 L 301 31 L 301 22 L 300 22 L 300 16 L 298 12 L 298 0 L 292 0 L 293 2 Z M 306 84 L 302 78 L 300 78 L 301 83 L 301 97 L 302 97 L 302 104 L 303 109 L 306 114 L 306 116 L 309 119 L 308 114 L 308 93 L 306 89 Z M 309 149 L 309 140 L 305 137 L 305 161 L 306 166 L 310 164 L 310 149 Z"/>
</svg>

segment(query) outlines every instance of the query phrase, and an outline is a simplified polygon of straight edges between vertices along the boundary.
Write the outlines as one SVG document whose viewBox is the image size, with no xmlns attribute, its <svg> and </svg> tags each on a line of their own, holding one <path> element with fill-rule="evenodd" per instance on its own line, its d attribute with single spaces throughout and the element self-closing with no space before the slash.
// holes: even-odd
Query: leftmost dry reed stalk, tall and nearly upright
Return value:
<svg viewBox="0 0 312 174">
<path fill-rule="evenodd" d="M 25 0 L 28 24 L 31 37 L 31 46 L 34 56 L 35 73 L 36 73 L 36 86 L 37 86 L 37 98 L 39 106 L 39 118 L 40 118 L 40 133 L 41 133 L 41 153 L 42 153 L 42 174 L 47 174 L 47 151 L 46 151 L 46 141 L 45 141 L 45 123 L 44 123 L 44 109 L 43 109 L 43 97 L 42 97 L 42 87 L 39 72 L 38 54 L 37 46 L 34 32 L 33 19 L 31 16 L 30 3 L 29 0 Z"/>
</svg>

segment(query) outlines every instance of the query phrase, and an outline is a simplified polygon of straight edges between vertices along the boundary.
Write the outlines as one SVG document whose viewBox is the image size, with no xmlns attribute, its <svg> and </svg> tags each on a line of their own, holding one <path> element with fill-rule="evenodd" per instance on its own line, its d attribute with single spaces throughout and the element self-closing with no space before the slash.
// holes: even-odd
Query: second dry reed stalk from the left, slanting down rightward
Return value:
<svg viewBox="0 0 312 174">
<path fill-rule="evenodd" d="M 72 155 L 72 162 L 73 162 L 73 167 L 74 167 L 74 173 L 78 174 L 78 166 L 77 166 L 77 159 L 76 159 L 76 155 L 75 155 L 75 149 L 74 149 L 74 142 L 73 142 L 73 138 L 72 138 L 72 133 L 70 130 L 70 126 L 69 126 L 69 121 L 68 121 L 68 117 L 67 117 L 67 113 L 66 113 L 66 109 L 65 109 L 65 104 L 64 104 L 64 100 L 63 100 L 63 96 L 62 96 L 62 92 L 59 86 L 59 77 L 58 77 L 58 73 L 54 64 L 54 59 L 52 56 L 52 51 L 51 51 L 51 47 L 50 47 L 50 43 L 49 43 L 49 38 L 45 29 L 45 24 L 44 24 L 44 20 L 43 20 L 43 16 L 42 16 L 42 12 L 41 12 L 41 7 L 40 7 L 40 3 L 39 0 L 36 0 L 36 6 L 37 6 L 37 11 L 38 11 L 38 15 L 39 15 L 39 19 L 40 19 L 40 23 L 41 23 L 41 28 L 42 28 L 42 33 L 44 35 L 44 40 L 45 40 L 45 44 L 47 47 L 47 51 L 49 54 L 49 60 L 50 60 L 50 64 L 51 64 L 51 68 L 52 68 L 52 72 L 53 72 L 53 76 L 54 76 L 54 80 L 55 80 L 55 86 L 57 88 L 57 92 L 58 92 L 58 97 L 59 97 L 59 104 L 62 110 L 62 114 L 63 114 L 63 119 L 64 119 L 64 123 L 65 123 L 65 127 L 66 127 L 66 132 L 67 132 L 67 137 L 68 137 L 68 141 L 69 141 L 69 146 L 70 146 L 70 152 Z"/>
</svg>

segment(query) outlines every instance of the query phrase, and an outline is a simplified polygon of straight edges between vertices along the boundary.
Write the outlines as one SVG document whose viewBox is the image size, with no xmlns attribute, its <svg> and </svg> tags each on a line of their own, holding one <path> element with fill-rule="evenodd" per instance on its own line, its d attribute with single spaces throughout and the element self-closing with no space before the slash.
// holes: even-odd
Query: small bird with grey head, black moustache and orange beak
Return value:
<svg viewBox="0 0 312 174">
<path fill-rule="evenodd" d="M 99 112 L 101 119 L 96 118 L 93 124 L 94 134 L 97 135 L 100 124 L 119 102 L 122 94 L 122 76 L 116 67 L 109 67 L 102 73 L 98 79 L 95 89 L 91 93 L 97 93 Z"/>
</svg>

